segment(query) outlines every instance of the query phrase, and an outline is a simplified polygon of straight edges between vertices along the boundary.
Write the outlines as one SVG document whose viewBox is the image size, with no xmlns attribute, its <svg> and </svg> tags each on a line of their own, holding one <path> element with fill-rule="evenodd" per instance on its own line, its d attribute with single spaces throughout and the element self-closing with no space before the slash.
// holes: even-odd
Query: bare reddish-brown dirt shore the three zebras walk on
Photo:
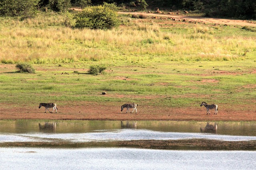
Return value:
<svg viewBox="0 0 256 170">
<path fill-rule="evenodd" d="M 0 119 L 61 119 L 61 120 L 176 120 L 176 121 L 256 121 L 256 110 L 250 107 L 238 111 L 237 106 L 231 110 L 219 106 L 218 114 L 206 115 L 205 107 L 192 108 L 158 108 L 138 106 L 138 113 L 123 113 L 120 107 L 106 107 L 97 102 L 76 102 L 74 106 L 58 106 L 58 113 L 44 113 L 45 108 L 38 106 L 13 107 L 1 104 Z M 111 104 L 110 104 L 111 105 Z M 115 105 L 112 105 L 115 106 Z M 50 109 L 52 111 L 52 109 Z"/>
</svg>

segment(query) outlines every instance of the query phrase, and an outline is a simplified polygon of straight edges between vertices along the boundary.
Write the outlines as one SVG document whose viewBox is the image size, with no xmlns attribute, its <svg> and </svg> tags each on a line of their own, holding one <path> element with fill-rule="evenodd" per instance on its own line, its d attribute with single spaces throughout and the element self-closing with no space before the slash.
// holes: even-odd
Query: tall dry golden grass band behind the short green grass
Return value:
<svg viewBox="0 0 256 170">
<path fill-rule="evenodd" d="M 215 38 L 209 27 L 188 34 L 163 32 L 157 24 L 136 23 L 112 30 L 72 29 L 64 16 L 16 21 L 1 18 L 1 63 L 70 63 L 141 57 L 158 60 L 239 60 L 256 51 L 244 37 Z M 150 59 L 149 59 L 150 58 Z"/>
</svg>

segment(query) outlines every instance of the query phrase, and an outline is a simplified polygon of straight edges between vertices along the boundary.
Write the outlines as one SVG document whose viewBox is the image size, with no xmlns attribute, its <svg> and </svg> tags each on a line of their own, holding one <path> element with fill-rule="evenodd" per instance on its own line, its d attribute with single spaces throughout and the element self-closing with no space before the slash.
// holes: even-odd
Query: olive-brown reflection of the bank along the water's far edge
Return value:
<svg viewBox="0 0 256 170">
<path fill-rule="evenodd" d="M 199 106 L 200 107 L 200 106 Z M 204 128 L 207 122 L 198 121 L 38 121 L 38 120 L 0 120 L 1 132 L 22 133 L 31 130 L 39 131 L 38 123 L 49 126 L 56 123 L 56 133 L 86 133 L 98 130 L 115 130 L 127 128 L 148 129 L 162 132 L 189 132 L 200 133 L 200 128 Z M 209 123 L 213 124 L 214 123 Z M 241 135 L 256 136 L 256 132 L 251 129 L 255 128 L 256 122 L 222 122 L 218 121 L 218 134 L 220 135 Z"/>
</svg>

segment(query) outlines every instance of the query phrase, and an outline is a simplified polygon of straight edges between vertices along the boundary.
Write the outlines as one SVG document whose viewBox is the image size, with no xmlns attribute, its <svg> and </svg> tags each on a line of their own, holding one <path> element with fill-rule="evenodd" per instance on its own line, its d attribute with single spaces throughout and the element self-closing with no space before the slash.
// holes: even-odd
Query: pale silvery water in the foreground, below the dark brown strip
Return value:
<svg viewBox="0 0 256 170">
<path fill-rule="evenodd" d="M 1 170 L 254 170 L 254 151 L 0 148 Z"/>
</svg>

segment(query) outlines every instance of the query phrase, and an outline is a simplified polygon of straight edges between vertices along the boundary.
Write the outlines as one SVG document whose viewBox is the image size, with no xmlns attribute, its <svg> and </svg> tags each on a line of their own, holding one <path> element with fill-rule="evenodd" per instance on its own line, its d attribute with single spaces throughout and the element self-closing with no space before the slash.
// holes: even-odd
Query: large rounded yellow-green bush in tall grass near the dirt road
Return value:
<svg viewBox="0 0 256 170">
<path fill-rule="evenodd" d="M 86 7 L 76 16 L 77 28 L 112 29 L 118 27 L 117 12 L 106 6 Z"/>
</svg>

